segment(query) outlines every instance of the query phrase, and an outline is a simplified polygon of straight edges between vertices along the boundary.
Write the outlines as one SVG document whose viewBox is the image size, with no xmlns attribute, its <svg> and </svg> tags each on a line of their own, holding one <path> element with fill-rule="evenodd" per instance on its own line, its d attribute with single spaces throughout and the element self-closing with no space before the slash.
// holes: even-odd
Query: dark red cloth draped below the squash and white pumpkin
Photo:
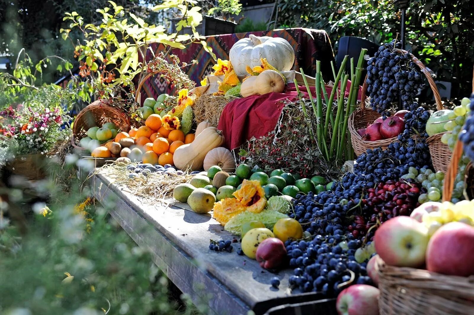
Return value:
<svg viewBox="0 0 474 315">
<path fill-rule="evenodd" d="M 300 91 L 308 97 L 306 87 L 299 86 Z M 310 87 L 311 95 L 315 96 L 315 89 Z M 330 87 L 326 87 L 329 93 Z M 347 82 L 346 97 L 349 94 L 350 81 Z M 359 89 L 358 99 L 362 89 Z M 282 113 L 284 100 L 295 101 L 298 98 L 294 84 L 290 83 L 283 93 L 268 93 L 238 98 L 226 105 L 219 119 L 218 129 L 225 137 L 225 147 L 236 149 L 246 140 L 262 137 L 273 131 Z"/>
</svg>

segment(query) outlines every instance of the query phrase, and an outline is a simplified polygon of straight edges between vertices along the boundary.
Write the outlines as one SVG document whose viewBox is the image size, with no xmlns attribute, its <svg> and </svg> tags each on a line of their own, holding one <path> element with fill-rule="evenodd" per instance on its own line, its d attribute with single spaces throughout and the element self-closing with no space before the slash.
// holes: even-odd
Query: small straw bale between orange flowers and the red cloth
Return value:
<svg viewBox="0 0 474 315">
<path fill-rule="evenodd" d="M 213 126 L 217 126 L 224 107 L 237 98 L 235 96 L 214 96 L 209 93 L 202 94 L 192 105 L 196 122 L 208 121 Z"/>
</svg>

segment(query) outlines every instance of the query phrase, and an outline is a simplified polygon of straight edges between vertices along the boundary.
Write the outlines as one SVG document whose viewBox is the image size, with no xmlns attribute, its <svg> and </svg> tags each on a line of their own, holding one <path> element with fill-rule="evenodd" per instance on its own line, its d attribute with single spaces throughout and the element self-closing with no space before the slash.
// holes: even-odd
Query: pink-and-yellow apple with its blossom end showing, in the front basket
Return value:
<svg viewBox="0 0 474 315">
<path fill-rule="evenodd" d="M 428 240 L 424 224 L 410 217 L 395 217 L 375 231 L 375 251 L 388 265 L 415 268 L 425 263 Z"/>
</svg>

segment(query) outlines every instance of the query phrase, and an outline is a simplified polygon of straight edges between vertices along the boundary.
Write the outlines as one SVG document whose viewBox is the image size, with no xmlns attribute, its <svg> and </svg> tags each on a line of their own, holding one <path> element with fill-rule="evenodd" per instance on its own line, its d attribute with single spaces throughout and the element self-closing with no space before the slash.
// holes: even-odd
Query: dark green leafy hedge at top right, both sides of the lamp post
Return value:
<svg viewBox="0 0 474 315">
<path fill-rule="evenodd" d="M 454 95 L 466 95 L 471 89 L 467 82 L 472 78 L 474 59 L 473 11 L 474 2 L 469 0 L 414 0 L 407 10 L 406 48 L 438 79 L 452 81 Z M 333 41 L 349 35 L 380 44 L 400 32 L 400 17 L 390 0 L 283 0 L 277 22 L 325 29 Z"/>
</svg>

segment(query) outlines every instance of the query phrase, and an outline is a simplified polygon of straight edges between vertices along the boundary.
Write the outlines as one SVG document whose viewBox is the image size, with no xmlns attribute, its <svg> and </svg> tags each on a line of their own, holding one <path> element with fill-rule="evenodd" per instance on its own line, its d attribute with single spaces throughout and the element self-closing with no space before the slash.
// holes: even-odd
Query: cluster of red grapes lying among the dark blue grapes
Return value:
<svg viewBox="0 0 474 315">
<path fill-rule="evenodd" d="M 367 198 L 362 199 L 362 215 L 354 216 L 354 222 L 347 230 L 354 237 L 365 236 L 377 224 L 397 216 L 409 216 L 420 205 L 418 197 L 422 193 L 419 183 L 413 180 L 379 183 L 367 189 Z"/>
</svg>

